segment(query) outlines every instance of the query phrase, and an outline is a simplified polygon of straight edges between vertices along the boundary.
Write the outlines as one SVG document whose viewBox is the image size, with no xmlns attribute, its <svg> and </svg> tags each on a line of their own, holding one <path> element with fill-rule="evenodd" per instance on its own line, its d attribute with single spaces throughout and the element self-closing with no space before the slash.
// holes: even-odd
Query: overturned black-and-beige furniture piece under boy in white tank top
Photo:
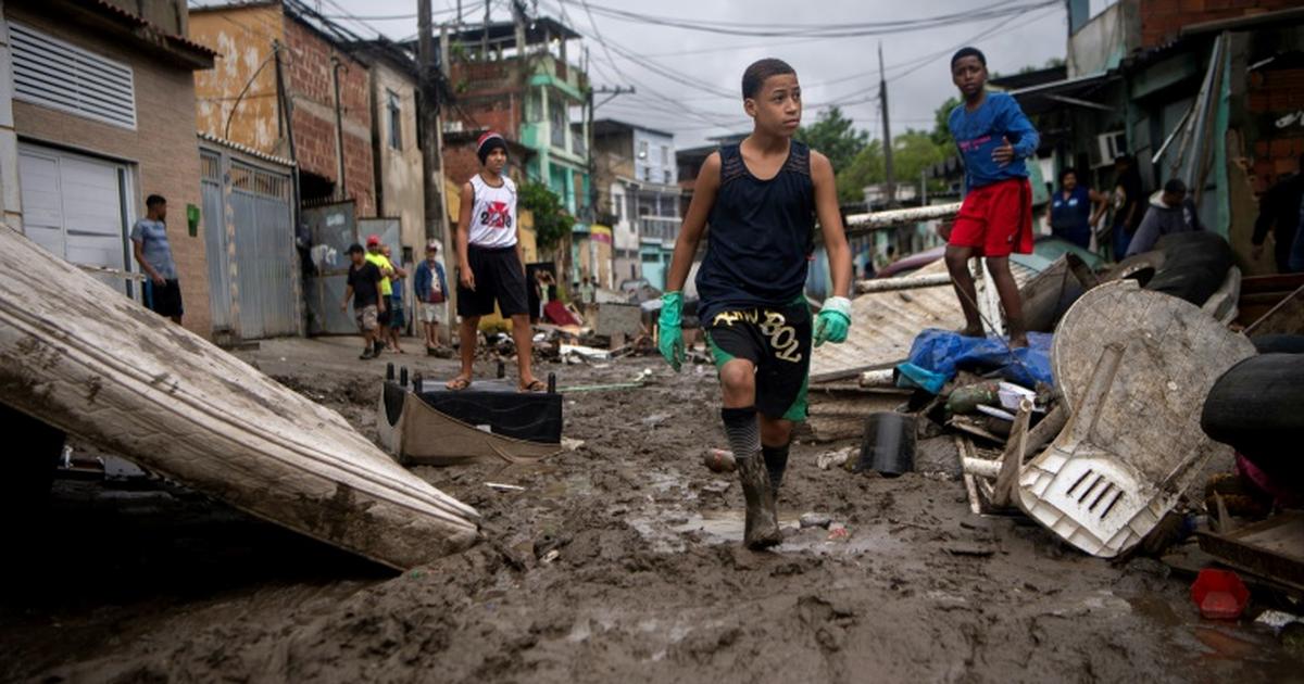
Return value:
<svg viewBox="0 0 1304 684">
<path fill-rule="evenodd" d="M 476 380 L 452 391 L 402 369 L 381 388 L 376 429 L 403 465 L 535 463 L 562 451 L 562 395 L 549 387 Z"/>
</svg>

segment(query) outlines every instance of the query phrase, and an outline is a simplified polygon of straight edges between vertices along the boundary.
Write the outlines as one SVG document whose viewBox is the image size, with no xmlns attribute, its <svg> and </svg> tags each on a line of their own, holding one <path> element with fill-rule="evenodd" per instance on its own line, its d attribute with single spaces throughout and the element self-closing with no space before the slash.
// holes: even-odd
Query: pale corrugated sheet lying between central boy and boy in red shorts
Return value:
<svg viewBox="0 0 1304 684">
<path fill-rule="evenodd" d="M 1011 263 L 1022 285 L 1035 271 Z M 945 274 L 947 264 L 934 262 L 914 275 Z M 982 281 L 978 300 L 982 301 Z M 910 353 L 910 344 L 925 328 L 958 330 L 965 324 L 960 301 L 949 285 L 862 294 L 852 300 L 852 330 L 842 344 L 824 344 L 811 354 L 811 382 L 846 378 L 874 367 L 893 366 Z"/>
</svg>

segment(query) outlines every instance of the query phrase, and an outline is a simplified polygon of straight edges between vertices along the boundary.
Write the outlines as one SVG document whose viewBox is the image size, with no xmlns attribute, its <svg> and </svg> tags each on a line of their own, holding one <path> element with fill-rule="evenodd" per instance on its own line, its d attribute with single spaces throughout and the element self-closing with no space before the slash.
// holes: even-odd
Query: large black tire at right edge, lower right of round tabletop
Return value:
<svg viewBox="0 0 1304 684">
<path fill-rule="evenodd" d="M 1200 427 L 1269 477 L 1304 482 L 1304 356 L 1262 354 L 1227 370 L 1205 399 Z"/>
</svg>

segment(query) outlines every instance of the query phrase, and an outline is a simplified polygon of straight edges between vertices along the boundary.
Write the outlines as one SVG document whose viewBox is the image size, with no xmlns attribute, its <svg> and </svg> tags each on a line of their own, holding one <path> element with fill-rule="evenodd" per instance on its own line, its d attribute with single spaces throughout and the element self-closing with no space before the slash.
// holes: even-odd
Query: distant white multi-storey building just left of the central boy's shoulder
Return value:
<svg viewBox="0 0 1304 684">
<path fill-rule="evenodd" d="M 636 124 L 593 121 L 597 219 L 612 227 L 614 275 L 665 287 L 682 223 L 674 135 Z"/>
</svg>

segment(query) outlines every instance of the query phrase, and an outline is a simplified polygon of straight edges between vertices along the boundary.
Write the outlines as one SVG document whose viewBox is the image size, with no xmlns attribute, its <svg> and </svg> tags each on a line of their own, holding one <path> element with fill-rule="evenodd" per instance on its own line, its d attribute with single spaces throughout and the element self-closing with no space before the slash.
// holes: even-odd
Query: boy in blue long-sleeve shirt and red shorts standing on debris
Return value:
<svg viewBox="0 0 1304 684">
<path fill-rule="evenodd" d="M 964 102 L 951 111 L 951 135 L 965 162 L 965 201 L 947 236 L 947 268 L 965 313 L 964 335 L 981 337 L 978 294 L 969 259 L 983 257 L 996 283 L 1011 347 L 1026 347 L 1011 253 L 1033 250 L 1033 192 L 1024 159 L 1037 152 L 1037 129 L 1015 98 L 987 93 L 987 59 L 966 47 L 951 57 L 951 79 Z"/>
</svg>

